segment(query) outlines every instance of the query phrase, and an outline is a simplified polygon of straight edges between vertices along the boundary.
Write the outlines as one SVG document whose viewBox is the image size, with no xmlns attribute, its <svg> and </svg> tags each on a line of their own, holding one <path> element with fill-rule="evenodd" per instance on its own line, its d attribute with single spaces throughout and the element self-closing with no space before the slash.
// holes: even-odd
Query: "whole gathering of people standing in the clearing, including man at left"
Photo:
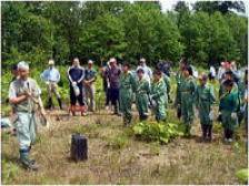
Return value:
<svg viewBox="0 0 249 186">
<path fill-rule="evenodd" d="M 151 110 L 158 122 L 166 122 L 168 103 L 172 102 L 170 65 L 158 63 L 152 71 L 146 64 L 146 59 L 140 59 L 139 63 L 139 66 L 132 70 L 126 62 L 119 66 L 117 60 L 112 58 L 99 72 L 107 97 L 106 106 L 111 103 L 113 114 L 123 117 L 123 126 L 131 124 L 132 103 L 136 103 L 140 121 L 147 121 L 149 110 Z M 37 82 L 29 78 L 29 65 L 23 61 L 19 62 L 13 72 L 14 78 L 9 87 L 9 102 L 12 106 L 11 112 L 17 115 L 14 126 L 19 141 L 20 161 L 27 168 L 36 170 L 38 166 L 29 157 L 36 140 L 36 112 L 39 108 L 42 116 L 46 117 L 47 114 L 40 97 L 41 90 Z M 70 113 L 76 115 L 77 102 L 81 115 L 86 115 L 87 111 L 94 112 L 97 71 L 93 69 L 93 61 L 89 60 L 87 68 L 83 69 L 80 66 L 79 59 L 73 59 L 67 75 L 70 83 Z M 248 70 L 243 78 L 239 78 L 236 70 L 229 66 L 219 80 L 219 118 L 222 122 L 227 142 L 232 141 L 233 131 L 241 121 L 245 121 L 247 125 L 247 75 Z M 192 66 L 186 60 L 181 60 L 175 76 L 177 90 L 173 105 L 178 117 L 182 118 L 186 125 L 185 135 L 190 136 L 191 134 L 196 107 L 199 111 L 202 137 L 211 141 L 215 120 L 213 103 L 218 100 L 212 85 L 208 83 L 209 75 L 202 72 L 198 78 L 193 76 Z M 48 107 L 53 107 L 52 94 L 56 94 L 62 110 L 62 101 L 58 91 L 60 73 L 53 60 L 49 61 L 49 68 L 41 73 L 40 79 L 47 85 Z"/>
</svg>

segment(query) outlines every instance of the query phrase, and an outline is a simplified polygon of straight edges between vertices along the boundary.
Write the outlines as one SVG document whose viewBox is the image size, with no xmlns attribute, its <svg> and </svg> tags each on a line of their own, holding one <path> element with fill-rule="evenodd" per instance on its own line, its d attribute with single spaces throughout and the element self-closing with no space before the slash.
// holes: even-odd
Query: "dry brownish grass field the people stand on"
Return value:
<svg viewBox="0 0 249 186">
<path fill-rule="evenodd" d="M 141 142 L 130 127 L 122 127 L 121 117 L 102 110 L 103 95 L 98 81 L 96 114 L 70 117 L 67 111 L 48 112 L 51 128 L 39 128 L 32 148 L 32 157 L 41 166 L 39 172 L 21 168 L 17 138 L 8 131 L 1 132 L 2 184 L 246 184 L 236 176 L 237 170 L 248 165 L 245 124 L 231 144 L 222 142 L 222 127 L 217 122 L 213 142 L 202 143 L 199 120 L 193 124 L 191 138 L 177 137 L 167 145 Z M 217 91 L 218 83 L 215 87 Z M 62 86 L 60 91 L 64 91 L 67 100 L 68 90 Z M 172 94 L 175 91 L 172 80 Z M 7 114 L 8 107 L 2 105 L 2 114 Z M 172 105 L 169 105 L 168 115 L 170 123 L 181 123 Z M 132 122 L 137 121 L 133 110 Z M 73 133 L 88 138 L 89 159 L 86 162 L 70 161 Z"/>
</svg>

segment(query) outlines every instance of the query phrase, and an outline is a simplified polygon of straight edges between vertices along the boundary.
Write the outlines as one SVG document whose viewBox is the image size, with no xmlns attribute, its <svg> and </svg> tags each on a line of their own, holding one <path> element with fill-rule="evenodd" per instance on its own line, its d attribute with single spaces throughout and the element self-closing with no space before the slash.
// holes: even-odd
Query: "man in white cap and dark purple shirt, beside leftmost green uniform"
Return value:
<svg viewBox="0 0 249 186">
<path fill-rule="evenodd" d="M 114 106 L 114 114 L 120 116 L 119 113 L 119 91 L 120 91 L 120 75 L 121 70 L 118 68 L 114 58 L 110 59 L 111 69 L 108 73 L 108 79 L 110 83 L 110 99 L 111 104 Z"/>
</svg>

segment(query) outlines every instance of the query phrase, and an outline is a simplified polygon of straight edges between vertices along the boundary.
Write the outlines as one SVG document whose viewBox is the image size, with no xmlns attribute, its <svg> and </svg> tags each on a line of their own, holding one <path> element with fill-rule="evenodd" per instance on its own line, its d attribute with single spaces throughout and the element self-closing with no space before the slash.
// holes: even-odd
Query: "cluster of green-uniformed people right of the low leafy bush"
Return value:
<svg viewBox="0 0 249 186">
<path fill-rule="evenodd" d="M 199 85 L 192 78 L 192 70 L 186 61 L 180 62 L 180 71 L 177 74 L 176 106 L 179 116 L 182 115 L 187 124 L 186 134 L 190 135 L 191 124 L 195 117 L 193 107 L 199 111 L 200 124 L 203 138 L 211 141 L 212 121 L 215 120 L 213 103 L 219 103 L 218 121 L 222 123 L 226 142 L 232 142 L 233 132 L 245 121 L 247 127 L 248 116 L 248 70 L 245 75 L 238 75 L 235 62 L 221 63 L 222 72 L 219 70 L 220 87 L 219 99 L 216 99 L 211 84 L 208 83 L 206 73 L 201 73 Z M 220 68 L 220 69 L 221 69 Z M 213 74 L 213 73 L 212 73 Z M 211 79 L 212 81 L 212 79 Z"/>
</svg>

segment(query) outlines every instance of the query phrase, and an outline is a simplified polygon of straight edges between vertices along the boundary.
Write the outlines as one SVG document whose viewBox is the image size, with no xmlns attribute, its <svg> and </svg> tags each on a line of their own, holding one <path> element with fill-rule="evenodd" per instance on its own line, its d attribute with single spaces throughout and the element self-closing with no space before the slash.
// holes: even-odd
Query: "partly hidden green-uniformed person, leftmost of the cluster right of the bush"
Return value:
<svg viewBox="0 0 249 186">
<path fill-rule="evenodd" d="M 183 81 L 185 81 L 183 70 L 185 70 L 186 65 L 187 65 L 187 61 L 181 60 L 180 61 L 180 69 L 176 74 L 177 93 L 176 93 L 175 106 L 177 107 L 178 118 L 181 117 L 181 86 L 182 86 Z"/>
</svg>

